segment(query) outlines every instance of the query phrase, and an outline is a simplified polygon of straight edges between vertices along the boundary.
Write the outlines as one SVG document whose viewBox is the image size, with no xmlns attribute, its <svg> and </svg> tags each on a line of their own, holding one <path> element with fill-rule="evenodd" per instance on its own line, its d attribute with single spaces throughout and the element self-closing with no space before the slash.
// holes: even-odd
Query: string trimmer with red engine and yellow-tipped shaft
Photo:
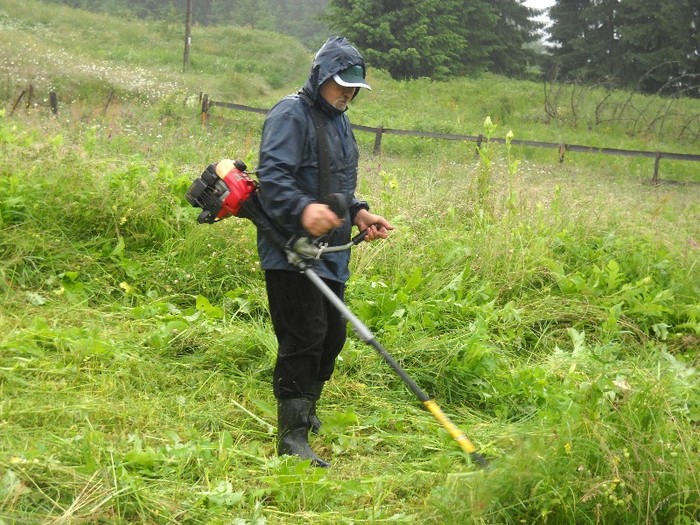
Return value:
<svg viewBox="0 0 700 525">
<path fill-rule="evenodd" d="M 487 466 L 486 458 L 477 451 L 476 446 L 457 426 L 450 421 L 438 404 L 430 398 L 416 382 L 401 368 L 396 360 L 379 344 L 372 332 L 360 321 L 326 285 L 314 271 L 314 261 L 323 257 L 324 253 L 349 250 L 364 240 L 367 231 L 355 236 L 349 243 L 342 246 L 328 246 L 325 243 L 308 237 L 287 238 L 274 225 L 260 204 L 257 194 L 258 184 L 247 171 L 245 163 L 222 160 L 210 164 L 204 172 L 192 183 L 187 191 L 187 201 L 195 208 L 201 208 L 197 220 L 200 223 L 219 222 L 231 216 L 248 219 L 267 236 L 271 242 L 284 250 L 290 264 L 303 272 L 306 277 L 323 293 L 328 301 L 352 324 L 358 337 L 372 346 L 384 361 L 391 367 L 415 396 L 423 403 L 438 422 L 457 441 L 464 452 L 481 467 Z M 329 204 L 331 208 L 341 208 L 344 205 L 342 195 L 336 194 Z M 335 211 L 335 210 L 334 210 Z"/>
</svg>

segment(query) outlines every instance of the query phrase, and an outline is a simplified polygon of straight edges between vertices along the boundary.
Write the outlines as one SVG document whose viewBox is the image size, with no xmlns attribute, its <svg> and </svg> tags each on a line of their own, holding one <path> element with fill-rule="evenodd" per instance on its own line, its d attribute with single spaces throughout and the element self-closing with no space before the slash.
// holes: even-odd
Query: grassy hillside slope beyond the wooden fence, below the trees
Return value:
<svg viewBox="0 0 700 525">
<path fill-rule="evenodd" d="M 0 49 L 6 105 L 31 84 L 38 100 L 46 100 L 52 89 L 64 102 L 80 98 L 95 105 L 110 93 L 178 100 L 206 93 L 214 100 L 268 108 L 303 84 L 312 58 L 283 35 L 239 26 L 195 27 L 191 65 L 182 73 L 182 27 L 38 0 L 3 2 L 0 33 L 7 43 Z M 369 80 L 374 89 L 362 93 L 353 107 L 353 120 L 368 126 L 478 135 L 490 116 L 499 126 L 498 136 L 512 129 L 516 138 L 534 141 L 694 153 L 700 140 L 697 100 L 495 75 L 447 83 L 395 82 L 382 71 L 370 70 Z M 532 148 L 523 155 L 557 158 L 555 152 Z M 615 166 L 619 159 L 605 160 Z M 638 170 L 634 164 L 631 170 L 624 166 L 617 168 Z M 668 172 L 676 171 L 668 166 Z M 692 173 L 687 164 L 678 167 L 681 178 Z"/>
</svg>

